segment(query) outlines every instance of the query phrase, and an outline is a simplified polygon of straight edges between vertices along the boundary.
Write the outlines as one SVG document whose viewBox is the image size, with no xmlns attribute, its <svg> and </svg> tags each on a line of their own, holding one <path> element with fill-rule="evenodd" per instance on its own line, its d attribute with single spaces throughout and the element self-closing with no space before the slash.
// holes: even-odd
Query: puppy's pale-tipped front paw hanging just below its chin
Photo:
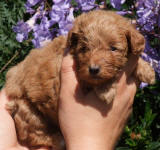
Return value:
<svg viewBox="0 0 160 150">
<path fill-rule="evenodd" d="M 115 95 L 116 95 L 116 89 L 114 88 L 114 86 L 111 87 L 107 87 L 107 86 L 103 86 L 103 87 L 98 87 L 94 89 L 96 95 L 102 100 L 105 101 L 107 104 L 110 104 Z"/>
</svg>

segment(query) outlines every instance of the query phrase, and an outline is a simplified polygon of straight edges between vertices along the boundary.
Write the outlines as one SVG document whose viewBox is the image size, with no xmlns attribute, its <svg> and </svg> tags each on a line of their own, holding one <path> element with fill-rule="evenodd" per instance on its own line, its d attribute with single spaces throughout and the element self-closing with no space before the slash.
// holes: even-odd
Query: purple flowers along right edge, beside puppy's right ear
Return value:
<svg viewBox="0 0 160 150">
<path fill-rule="evenodd" d="M 137 0 L 135 8 L 137 28 L 146 38 L 142 57 L 153 66 L 160 77 L 160 42 L 155 42 L 160 40 L 160 0 Z"/>
</svg>

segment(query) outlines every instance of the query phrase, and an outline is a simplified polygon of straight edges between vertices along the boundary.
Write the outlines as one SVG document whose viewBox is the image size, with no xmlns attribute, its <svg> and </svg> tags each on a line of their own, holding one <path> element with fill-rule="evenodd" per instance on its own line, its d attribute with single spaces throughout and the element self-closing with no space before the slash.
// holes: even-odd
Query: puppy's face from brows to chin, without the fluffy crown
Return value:
<svg viewBox="0 0 160 150">
<path fill-rule="evenodd" d="M 127 61 L 127 40 L 117 32 L 79 36 L 75 60 L 80 80 L 101 84 L 113 78 Z"/>
</svg>

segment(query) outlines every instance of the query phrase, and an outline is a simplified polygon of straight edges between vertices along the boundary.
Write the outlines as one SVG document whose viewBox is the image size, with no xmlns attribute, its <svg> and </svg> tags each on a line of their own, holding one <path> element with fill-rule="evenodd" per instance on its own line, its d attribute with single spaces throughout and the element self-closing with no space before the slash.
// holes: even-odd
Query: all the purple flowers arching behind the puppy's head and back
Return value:
<svg viewBox="0 0 160 150">
<path fill-rule="evenodd" d="M 134 0 L 128 8 L 123 7 L 125 3 L 126 0 L 110 0 L 109 4 L 106 0 L 26 0 L 26 13 L 31 17 L 19 21 L 13 30 L 17 41 L 31 37 L 34 46 L 41 47 L 54 37 L 67 34 L 78 14 L 100 8 L 98 4 L 107 4 L 117 9 L 118 14 L 134 18 L 137 29 L 146 38 L 142 57 L 160 77 L 160 42 L 154 43 L 155 39 L 160 39 L 160 0 Z"/>
</svg>

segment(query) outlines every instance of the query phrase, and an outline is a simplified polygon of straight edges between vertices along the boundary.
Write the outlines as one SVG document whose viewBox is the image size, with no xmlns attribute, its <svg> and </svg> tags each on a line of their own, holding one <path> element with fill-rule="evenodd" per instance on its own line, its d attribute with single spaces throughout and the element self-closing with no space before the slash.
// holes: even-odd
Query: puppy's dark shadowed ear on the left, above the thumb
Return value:
<svg viewBox="0 0 160 150">
<path fill-rule="evenodd" d="M 76 49 L 78 44 L 79 34 L 76 32 L 70 31 L 68 33 L 67 38 L 67 48 L 69 49 L 70 53 L 73 54 L 74 49 Z"/>
</svg>

